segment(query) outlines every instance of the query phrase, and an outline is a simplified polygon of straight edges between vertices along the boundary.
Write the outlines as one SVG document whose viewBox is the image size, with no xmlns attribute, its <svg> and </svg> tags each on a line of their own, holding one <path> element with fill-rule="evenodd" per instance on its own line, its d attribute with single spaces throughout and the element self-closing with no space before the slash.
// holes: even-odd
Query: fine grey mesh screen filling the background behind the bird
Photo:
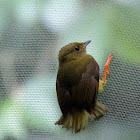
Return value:
<svg viewBox="0 0 140 140">
<path fill-rule="evenodd" d="M 140 139 L 139 0 L 0 1 L 0 139 Z M 77 134 L 54 123 L 61 111 L 55 82 L 58 51 L 87 47 L 110 75 L 98 100 L 109 111 Z"/>
</svg>

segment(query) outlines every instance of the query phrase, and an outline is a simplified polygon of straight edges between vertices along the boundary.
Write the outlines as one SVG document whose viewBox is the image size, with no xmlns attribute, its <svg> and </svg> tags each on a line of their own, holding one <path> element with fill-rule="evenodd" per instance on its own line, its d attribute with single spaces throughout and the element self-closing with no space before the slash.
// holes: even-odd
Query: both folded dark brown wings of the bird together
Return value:
<svg viewBox="0 0 140 140">
<path fill-rule="evenodd" d="M 78 84 L 65 88 L 60 85 L 57 78 L 57 97 L 63 114 L 69 112 L 72 107 L 85 108 L 89 112 L 93 108 L 98 94 L 99 66 L 93 58 L 90 59 L 90 63 L 87 65 Z"/>
</svg>

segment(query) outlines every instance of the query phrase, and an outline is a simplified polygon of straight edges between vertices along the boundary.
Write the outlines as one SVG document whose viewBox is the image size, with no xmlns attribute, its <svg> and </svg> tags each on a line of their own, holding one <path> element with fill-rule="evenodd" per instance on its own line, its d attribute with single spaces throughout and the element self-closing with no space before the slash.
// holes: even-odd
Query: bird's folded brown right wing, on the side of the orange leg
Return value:
<svg viewBox="0 0 140 140">
<path fill-rule="evenodd" d="M 96 101 L 98 86 L 99 66 L 92 58 L 87 65 L 86 71 L 82 74 L 79 84 L 71 89 L 73 104 L 90 112 Z"/>
</svg>

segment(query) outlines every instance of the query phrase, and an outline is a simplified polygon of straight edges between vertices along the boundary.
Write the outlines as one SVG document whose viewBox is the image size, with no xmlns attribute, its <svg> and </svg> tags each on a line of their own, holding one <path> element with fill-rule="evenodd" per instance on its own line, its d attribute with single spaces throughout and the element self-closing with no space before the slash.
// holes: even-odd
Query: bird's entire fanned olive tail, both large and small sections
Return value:
<svg viewBox="0 0 140 140">
<path fill-rule="evenodd" d="M 72 131 L 77 133 L 87 127 L 89 117 L 95 120 L 103 116 L 106 111 L 107 107 L 97 101 L 90 114 L 85 109 L 81 111 L 73 109 L 66 115 L 62 115 L 55 125 L 62 125 L 66 129 L 72 128 Z"/>
</svg>

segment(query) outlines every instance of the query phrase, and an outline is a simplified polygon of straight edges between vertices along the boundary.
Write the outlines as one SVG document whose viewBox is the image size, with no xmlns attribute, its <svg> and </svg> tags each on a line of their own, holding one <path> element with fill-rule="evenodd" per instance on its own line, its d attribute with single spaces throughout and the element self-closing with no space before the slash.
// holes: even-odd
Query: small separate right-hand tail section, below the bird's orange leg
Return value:
<svg viewBox="0 0 140 140">
<path fill-rule="evenodd" d="M 104 116 L 107 110 L 108 108 L 105 105 L 97 101 L 93 110 L 90 113 L 90 118 L 95 120 L 99 117 L 102 117 Z"/>
</svg>

